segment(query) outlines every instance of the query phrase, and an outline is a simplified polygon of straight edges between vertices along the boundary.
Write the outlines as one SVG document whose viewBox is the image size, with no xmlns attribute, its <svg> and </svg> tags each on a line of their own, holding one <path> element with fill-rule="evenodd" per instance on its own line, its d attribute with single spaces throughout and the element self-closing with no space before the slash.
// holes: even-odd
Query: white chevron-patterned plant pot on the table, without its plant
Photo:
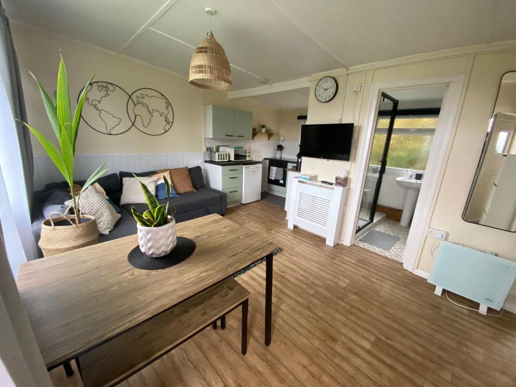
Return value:
<svg viewBox="0 0 516 387">
<path fill-rule="evenodd" d="M 167 255 L 178 241 L 175 219 L 161 227 L 143 227 L 140 223 L 137 223 L 137 227 L 140 250 L 154 258 Z"/>
</svg>

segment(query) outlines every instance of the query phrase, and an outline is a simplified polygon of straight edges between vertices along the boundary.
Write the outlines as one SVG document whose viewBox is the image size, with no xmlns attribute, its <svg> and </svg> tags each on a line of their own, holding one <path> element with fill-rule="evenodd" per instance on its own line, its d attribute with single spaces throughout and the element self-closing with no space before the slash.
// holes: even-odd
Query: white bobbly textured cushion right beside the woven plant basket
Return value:
<svg viewBox="0 0 516 387">
<path fill-rule="evenodd" d="M 67 204 L 69 202 L 71 200 L 67 201 Z M 121 217 L 106 200 L 106 197 L 96 191 L 93 186 L 89 186 L 80 194 L 79 209 L 82 214 L 95 217 L 99 232 L 105 235 L 109 234 Z"/>
</svg>

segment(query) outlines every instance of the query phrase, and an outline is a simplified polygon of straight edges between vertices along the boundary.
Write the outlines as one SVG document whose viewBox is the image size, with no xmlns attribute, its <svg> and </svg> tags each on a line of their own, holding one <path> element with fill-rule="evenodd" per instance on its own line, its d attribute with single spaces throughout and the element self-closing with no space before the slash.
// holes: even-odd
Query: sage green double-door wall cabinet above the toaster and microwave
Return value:
<svg viewBox="0 0 516 387">
<path fill-rule="evenodd" d="M 206 138 L 251 140 L 252 111 L 207 105 L 204 107 L 204 136 Z"/>
</svg>

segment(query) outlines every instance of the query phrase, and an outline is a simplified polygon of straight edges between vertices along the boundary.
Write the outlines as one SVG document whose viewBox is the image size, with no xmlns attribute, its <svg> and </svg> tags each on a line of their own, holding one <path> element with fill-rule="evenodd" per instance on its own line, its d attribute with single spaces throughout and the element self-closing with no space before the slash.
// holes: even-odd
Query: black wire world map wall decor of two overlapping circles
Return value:
<svg viewBox="0 0 516 387">
<path fill-rule="evenodd" d="M 97 81 L 88 85 L 82 118 L 93 130 L 107 135 L 119 135 L 134 126 L 159 136 L 172 127 L 174 110 L 157 90 L 143 88 L 129 94 L 114 83 Z"/>
</svg>

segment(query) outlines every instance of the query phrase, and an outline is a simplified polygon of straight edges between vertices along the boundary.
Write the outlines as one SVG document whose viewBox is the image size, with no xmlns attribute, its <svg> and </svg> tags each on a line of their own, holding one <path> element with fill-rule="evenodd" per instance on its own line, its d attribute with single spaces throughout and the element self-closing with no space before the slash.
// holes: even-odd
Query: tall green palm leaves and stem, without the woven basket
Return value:
<svg viewBox="0 0 516 387">
<path fill-rule="evenodd" d="M 102 169 L 106 165 L 102 164 L 93 174 L 86 180 L 79 193 L 74 192 L 73 189 L 73 171 L 74 171 L 74 156 L 75 156 L 75 142 L 79 132 L 80 115 L 83 111 L 84 99 L 86 97 L 88 86 L 93 79 L 93 76 L 88 80 L 84 89 L 80 92 L 79 100 L 75 108 L 75 113 L 72 117 L 72 110 L 70 108 L 70 96 L 68 94 L 68 76 L 66 72 L 65 62 L 61 56 L 59 61 L 59 72 L 57 74 L 57 91 L 55 92 L 55 102 L 51 100 L 49 94 L 45 91 L 41 83 L 38 81 L 33 73 L 30 73 L 38 84 L 41 93 L 41 99 L 45 106 L 46 115 L 49 117 L 50 124 L 56 135 L 60 150 L 54 143 L 45 137 L 41 132 L 30 126 L 26 122 L 23 124 L 29 128 L 38 141 L 41 143 L 46 153 L 50 156 L 57 169 L 66 182 L 70 186 L 70 192 L 73 199 L 73 209 L 75 212 L 75 223 L 80 223 L 78 203 L 80 194 L 86 188 L 98 180 L 108 169 Z"/>
</svg>

